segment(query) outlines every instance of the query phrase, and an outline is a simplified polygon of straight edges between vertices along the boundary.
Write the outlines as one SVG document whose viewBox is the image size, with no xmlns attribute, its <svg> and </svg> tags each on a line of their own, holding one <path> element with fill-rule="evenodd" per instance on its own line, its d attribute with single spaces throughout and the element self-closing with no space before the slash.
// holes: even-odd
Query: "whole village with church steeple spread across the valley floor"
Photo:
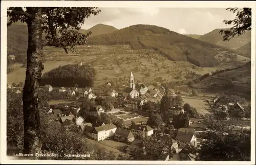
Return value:
<svg viewBox="0 0 256 165">
<path fill-rule="evenodd" d="M 16 86 L 19 85 L 22 84 Z M 136 83 L 136 77 L 132 72 L 130 82 L 123 85 L 122 91 L 115 90 L 110 82 L 104 85 L 109 87 L 109 90 L 102 96 L 98 96 L 93 87 L 56 88 L 50 84 L 41 86 L 41 91 L 44 90 L 53 96 L 61 96 L 62 100 L 67 101 L 58 103 L 57 98 L 51 100 L 53 103 L 50 103 L 47 112 L 49 119 L 59 122 L 67 131 L 78 130 L 90 142 L 106 147 L 106 150 L 125 156 L 140 148 L 145 138 L 154 137 L 163 140 L 172 150 L 172 155 L 163 151 L 161 160 L 197 159 L 197 154 L 193 151 L 200 148 L 202 140 L 207 140 L 204 139 L 204 134 L 212 131 L 204 124 L 205 118 L 227 123 L 232 131 L 250 131 L 250 119 L 244 117 L 245 109 L 236 99 L 225 95 L 210 99 L 182 96 L 177 90 L 161 85 Z M 21 93 L 19 87 L 8 85 L 8 88 L 17 94 Z M 194 108 L 192 112 L 193 107 L 186 103 L 190 100 L 194 102 L 203 100 L 208 105 L 208 109 L 200 113 Z M 92 115 L 89 120 L 79 113 L 84 109 L 83 104 L 88 102 L 94 103 L 93 107 L 86 109 Z M 157 110 L 157 106 L 168 104 L 167 102 L 174 104 L 167 106 L 165 112 Z M 215 111 L 212 111 L 213 109 Z M 101 116 L 100 120 L 99 116 Z M 160 121 L 157 119 L 159 116 Z M 174 123 L 178 116 L 183 116 L 183 120 L 176 120 Z M 163 117 L 167 117 L 167 120 Z M 182 122 L 183 124 L 180 125 Z"/>
</svg>

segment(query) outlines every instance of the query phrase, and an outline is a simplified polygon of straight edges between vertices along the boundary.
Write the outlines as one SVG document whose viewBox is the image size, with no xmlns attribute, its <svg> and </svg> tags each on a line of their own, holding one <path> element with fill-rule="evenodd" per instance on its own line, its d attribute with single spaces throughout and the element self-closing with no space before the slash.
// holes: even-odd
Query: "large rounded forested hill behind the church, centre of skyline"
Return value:
<svg viewBox="0 0 256 165">
<path fill-rule="evenodd" d="M 134 25 L 110 34 L 94 36 L 88 39 L 91 45 L 129 44 L 133 49 L 154 49 L 172 61 L 188 61 L 197 66 L 215 66 L 219 52 L 226 50 L 216 44 L 152 25 Z"/>
</svg>

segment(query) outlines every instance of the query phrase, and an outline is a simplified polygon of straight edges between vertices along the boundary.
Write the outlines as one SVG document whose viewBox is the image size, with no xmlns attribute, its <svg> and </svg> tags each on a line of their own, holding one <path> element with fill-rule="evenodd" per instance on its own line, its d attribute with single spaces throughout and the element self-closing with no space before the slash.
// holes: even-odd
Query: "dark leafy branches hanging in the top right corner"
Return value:
<svg viewBox="0 0 256 165">
<path fill-rule="evenodd" d="M 223 41 L 229 41 L 234 36 L 240 36 L 245 31 L 251 30 L 251 8 L 227 8 L 226 10 L 236 13 L 236 17 L 233 20 L 224 20 L 226 25 L 233 25 L 233 27 L 220 31 L 224 34 Z"/>
</svg>

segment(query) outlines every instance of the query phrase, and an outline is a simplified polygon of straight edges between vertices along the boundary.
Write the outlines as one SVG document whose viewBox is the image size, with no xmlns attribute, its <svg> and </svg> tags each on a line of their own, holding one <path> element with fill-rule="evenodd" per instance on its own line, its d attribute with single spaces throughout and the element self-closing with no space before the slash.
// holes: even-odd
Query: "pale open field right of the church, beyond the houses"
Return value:
<svg viewBox="0 0 256 165">
<path fill-rule="evenodd" d="M 199 100 L 199 99 L 188 99 L 188 98 L 183 98 L 183 100 L 184 100 L 184 104 L 187 103 L 190 106 L 196 108 L 198 113 L 201 113 L 203 115 L 211 114 L 209 112 L 211 111 L 210 106 L 206 101 Z"/>
</svg>

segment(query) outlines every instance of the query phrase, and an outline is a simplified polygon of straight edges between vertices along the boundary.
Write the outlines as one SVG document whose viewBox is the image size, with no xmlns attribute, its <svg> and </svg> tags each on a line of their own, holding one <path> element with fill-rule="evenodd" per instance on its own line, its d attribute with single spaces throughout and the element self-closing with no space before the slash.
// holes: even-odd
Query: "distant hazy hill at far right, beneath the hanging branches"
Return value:
<svg viewBox="0 0 256 165">
<path fill-rule="evenodd" d="M 236 50 L 251 41 L 251 31 L 246 31 L 241 36 L 234 36 L 229 41 L 222 41 L 223 35 L 220 33 L 220 30 L 221 29 L 215 29 L 207 34 L 202 35 L 198 39 L 205 42 L 225 46 L 226 48 L 233 49 L 233 50 Z M 225 29 L 225 30 L 228 30 L 228 29 Z"/>
</svg>

